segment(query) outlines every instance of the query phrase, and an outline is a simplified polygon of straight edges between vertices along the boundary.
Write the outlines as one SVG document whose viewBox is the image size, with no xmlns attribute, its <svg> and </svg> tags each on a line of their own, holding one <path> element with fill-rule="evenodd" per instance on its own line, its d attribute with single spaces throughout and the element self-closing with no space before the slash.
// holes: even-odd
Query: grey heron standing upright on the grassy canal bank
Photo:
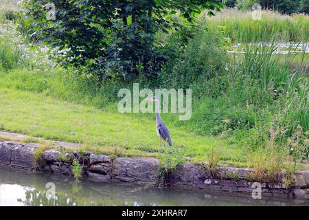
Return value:
<svg viewBox="0 0 309 220">
<path fill-rule="evenodd" d="M 168 128 L 162 122 L 161 117 L 160 117 L 159 99 L 155 96 L 154 98 L 150 98 L 150 100 L 155 102 L 157 135 L 159 138 L 164 140 L 164 146 L 165 146 L 165 142 L 168 142 L 168 144 L 172 146 L 172 140 L 170 139 L 170 132 L 168 131 Z"/>
</svg>

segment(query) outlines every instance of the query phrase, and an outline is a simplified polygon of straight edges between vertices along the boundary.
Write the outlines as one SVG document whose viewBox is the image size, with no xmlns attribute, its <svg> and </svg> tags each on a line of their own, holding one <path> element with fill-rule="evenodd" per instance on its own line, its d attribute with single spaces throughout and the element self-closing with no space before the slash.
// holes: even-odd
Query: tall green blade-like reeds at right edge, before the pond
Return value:
<svg viewBox="0 0 309 220">
<path fill-rule="evenodd" d="M 298 125 L 308 131 L 308 75 L 302 68 L 290 68 L 290 60 L 295 56 L 291 48 L 284 62 L 273 56 L 275 50 L 275 43 L 270 46 L 248 45 L 243 61 L 236 63 L 235 68 L 241 67 L 242 74 L 258 83 L 262 91 L 271 94 L 275 106 L 271 123 L 277 126 L 276 129 L 283 130 L 281 140 L 286 140 Z M 302 54 L 300 67 L 306 61 L 305 56 Z"/>
</svg>

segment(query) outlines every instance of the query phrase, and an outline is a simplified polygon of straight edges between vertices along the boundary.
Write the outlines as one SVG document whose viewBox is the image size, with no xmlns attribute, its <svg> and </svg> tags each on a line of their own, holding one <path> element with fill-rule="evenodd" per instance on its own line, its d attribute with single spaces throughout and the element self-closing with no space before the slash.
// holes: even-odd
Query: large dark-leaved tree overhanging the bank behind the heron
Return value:
<svg viewBox="0 0 309 220">
<path fill-rule="evenodd" d="M 47 20 L 47 0 L 29 0 L 27 14 L 37 21 L 40 39 L 65 50 L 59 61 L 87 67 L 98 80 L 158 74 L 168 59 L 155 45 L 155 32 L 179 27 L 172 15 L 192 22 L 196 14 L 220 10 L 220 0 L 54 0 L 56 20 Z"/>
</svg>

